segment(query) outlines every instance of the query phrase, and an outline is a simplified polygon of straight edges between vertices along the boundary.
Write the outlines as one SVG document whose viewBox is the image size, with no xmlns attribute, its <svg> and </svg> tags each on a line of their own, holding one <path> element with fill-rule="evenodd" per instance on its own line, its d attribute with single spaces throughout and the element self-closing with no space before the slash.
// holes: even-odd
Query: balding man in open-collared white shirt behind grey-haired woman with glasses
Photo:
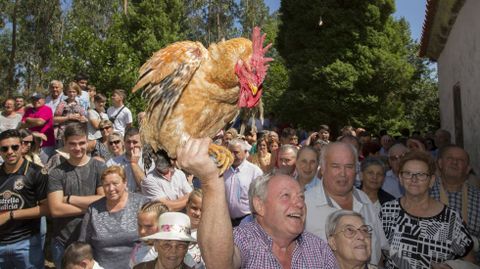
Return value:
<svg viewBox="0 0 480 269">
<path fill-rule="evenodd" d="M 353 187 L 357 159 L 356 150 L 349 144 L 335 142 L 325 146 L 320 160 L 323 179 L 305 192 L 308 208 L 305 230 L 326 240 L 325 222 L 329 214 L 340 209 L 358 212 L 373 228 L 370 263 L 378 265 L 381 250 L 388 248 L 388 241 L 368 196 Z"/>
</svg>

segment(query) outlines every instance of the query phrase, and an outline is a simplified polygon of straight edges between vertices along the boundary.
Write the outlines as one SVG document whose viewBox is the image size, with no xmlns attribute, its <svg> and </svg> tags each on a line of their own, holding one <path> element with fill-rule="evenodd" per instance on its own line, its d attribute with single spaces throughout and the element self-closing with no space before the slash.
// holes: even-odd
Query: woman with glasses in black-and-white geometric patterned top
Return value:
<svg viewBox="0 0 480 269">
<path fill-rule="evenodd" d="M 390 250 L 385 268 L 427 269 L 433 264 L 466 256 L 473 241 L 460 215 L 429 196 L 435 162 L 423 151 L 400 160 L 405 196 L 382 206 L 380 217 Z"/>
</svg>

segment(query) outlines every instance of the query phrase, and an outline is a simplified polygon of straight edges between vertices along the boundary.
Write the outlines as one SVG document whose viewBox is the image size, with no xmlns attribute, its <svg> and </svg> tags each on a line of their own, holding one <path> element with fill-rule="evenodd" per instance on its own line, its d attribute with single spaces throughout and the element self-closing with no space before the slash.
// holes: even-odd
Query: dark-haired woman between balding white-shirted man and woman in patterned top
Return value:
<svg viewBox="0 0 480 269">
<path fill-rule="evenodd" d="M 385 164 L 380 159 L 369 157 L 363 160 L 360 171 L 362 180 L 360 189 L 368 195 L 375 209 L 380 213 L 384 203 L 395 199 L 390 193 L 382 190 L 386 173 Z"/>
</svg>

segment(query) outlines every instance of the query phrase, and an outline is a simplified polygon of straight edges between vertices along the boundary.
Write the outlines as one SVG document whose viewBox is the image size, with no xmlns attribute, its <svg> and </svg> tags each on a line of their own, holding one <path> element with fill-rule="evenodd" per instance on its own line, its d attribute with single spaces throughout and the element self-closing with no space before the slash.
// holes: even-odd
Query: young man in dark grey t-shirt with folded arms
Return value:
<svg viewBox="0 0 480 269">
<path fill-rule="evenodd" d="M 70 158 L 48 174 L 48 206 L 53 217 L 52 257 L 58 269 L 65 248 L 78 239 L 88 206 L 104 195 L 100 176 L 105 164 L 87 155 L 85 126 L 67 125 L 64 140 Z"/>
</svg>

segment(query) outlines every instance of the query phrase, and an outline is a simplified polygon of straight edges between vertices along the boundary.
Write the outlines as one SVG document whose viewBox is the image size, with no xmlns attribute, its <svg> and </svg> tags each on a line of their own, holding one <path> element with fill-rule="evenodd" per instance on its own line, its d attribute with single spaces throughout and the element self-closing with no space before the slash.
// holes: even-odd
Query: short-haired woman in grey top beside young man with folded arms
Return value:
<svg viewBox="0 0 480 269">
<path fill-rule="evenodd" d="M 105 197 L 88 207 L 79 241 L 92 246 L 93 257 L 100 266 L 127 269 L 138 239 L 137 212 L 146 199 L 127 192 L 127 179 L 120 166 L 105 169 L 101 181 Z"/>
</svg>

